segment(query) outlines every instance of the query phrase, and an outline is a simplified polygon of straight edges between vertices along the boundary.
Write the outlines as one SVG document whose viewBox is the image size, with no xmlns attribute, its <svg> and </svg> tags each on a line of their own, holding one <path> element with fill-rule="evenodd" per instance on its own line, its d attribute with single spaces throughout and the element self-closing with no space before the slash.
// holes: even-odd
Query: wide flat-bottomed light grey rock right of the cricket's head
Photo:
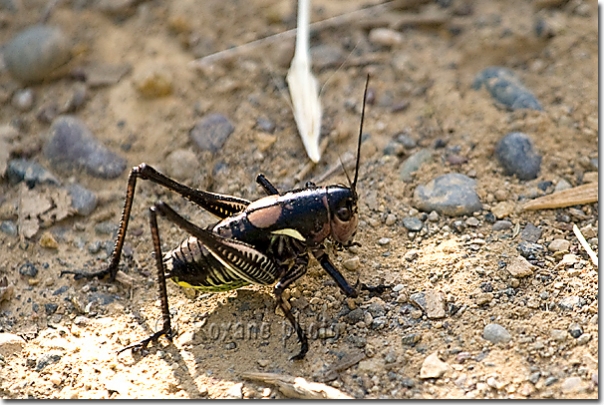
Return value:
<svg viewBox="0 0 604 405">
<path fill-rule="evenodd" d="M 413 193 L 416 208 L 449 216 L 471 215 L 482 209 L 474 187 L 476 181 L 460 173 L 449 173 L 419 185 Z"/>
</svg>

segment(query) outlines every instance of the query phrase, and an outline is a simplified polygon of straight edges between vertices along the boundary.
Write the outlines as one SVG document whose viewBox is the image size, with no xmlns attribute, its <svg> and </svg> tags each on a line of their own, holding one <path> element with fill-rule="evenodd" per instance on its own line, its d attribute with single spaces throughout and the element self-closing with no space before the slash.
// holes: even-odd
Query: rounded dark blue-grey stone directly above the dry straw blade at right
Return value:
<svg viewBox="0 0 604 405">
<path fill-rule="evenodd" d="M 532 180 L 541 170 L 541 156 L 533 148 L 528 135 L 511 132 L 504 136 L 495 150 L 497 159 L 509 176 L 520 180 Z"/>
</svg>

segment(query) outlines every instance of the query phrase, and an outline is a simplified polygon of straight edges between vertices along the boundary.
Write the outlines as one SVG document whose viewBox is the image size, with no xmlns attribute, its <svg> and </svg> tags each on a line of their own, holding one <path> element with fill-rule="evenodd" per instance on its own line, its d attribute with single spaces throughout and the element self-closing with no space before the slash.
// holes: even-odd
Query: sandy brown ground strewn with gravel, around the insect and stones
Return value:
<svg viewBox="0 0 604 405">
<path fill-rule="evenodd" d="M 375 3 L 316 0 L 311 20 Z M 527 196 L 542 193 L 540 182 L 565 180 L 575 186 L 597 170 L 590 164 L 598 158 L 595 4 L 395 3 L 394 8 L 336 20 L 313 31 L 311 45 L 322 47 L 315 72 L 325 85 L 323 136 L 329 143 L 321 162 L 300 181 L 295 176 L 308 158 L 284 81 L 293 37 L 241 50 L 203 68 L 190 64 L 294 28 L 294 2 L 73 1 L 55 6 L 48 24 L 61 27 L 74 41 L 67 73 L 29 86 L 34 106 L 21 111 L 11 104 L 11 94 L 24 86 L 4 70 L 0 124 L 19 128 L 21 147 L 13 150 L 12 158 L 29 158 L 62 183 L 77 182 L 93 190 L 99 204 L 89 216 L 63 219 L 29 239 L 0 234 L 0 276 L 14 286 L 12 298 L 0 303 L 0 332 L 25 340 L 22 349 L 1 360 L 3 398 L 282 398 L 273 386 L 246 380 L 242 373 L 321 381 L 325 370 L 353 358 L 357 362 L 327 383 L 357 398 L 598 397 L 597 267 L 571 231 L 576 223 L 597 232 L 598 204 L 522 210 Z M 15 4 L 16 11 L 0 9 L 0 43 L 36 23 L 46 6 L 41 1 Z M 30 12 L 35 9 L 40 13 Z M 400 22 L 394 24 L 400 38 L 389 32 L 381 43 L 369 41 L 370 29 L 393 21 Z M 293 336 L 288 338 L 291 330 L 275 312 L 269 287 L 195 296 L 170 284 L 172 319 L 178 328 L 174 342 L 162 338 L 146 356 L 130 351 L 116 355 L 160 325 L 147 208 L 161 198 L 198 224 L 214 219 L 178 196 L 140 182 L 121 267 L 132 284 L 59 277 L 65 269 L 90 271 L 108 262 L 113 237 L 102 231 L 107 224 L 119 224 L 128 170 L 112 180 L 83 171 L 55 171 L 41 152 L 49 124 L 36 114 L 53 100 L 69 97 L 77 84 L 74 72 L 101 64 L 131 69 L 117 82 L 89 87 L 75 113 L 98 139 L 129 167 L 146 162 L 171 173 L 182 172 L 183 163 L 168 155 L 187 150 L 196 161 L 185 164 L 190 170 L 180 174 L 182 181 L 248 199 L 262 196 L 255 184 L 257 173 L 286 190 L 354 153 L 362 89 L 371 73 L 373 102 L 365 120 L 368 136 L 358 184 L 361 246 L 331 254 L 351 283 L 359 278 L 396 288 L 346 299 L 312 263 L 289 291 L 311 342 L 304 360 L 291 361 L 299 346 Z M 486 90 L 473 90 L 475 75 L 494 65 L 514 70 L 544 111 L 509 111 Z M 139 84 L 150 72 L 159 72 L 158 81 L 165 79 L 169 94 L 142 93 Z M 217 152 L 200 151 L 189 131 L 215 112 L 226 116 L 235 131 Z M 273 134 L 257 125 L 261 118 L 275 125 Z M 511 131 L 528 134 L 543 156 L 537 179 L 506 176 L 494 157 L 497 141 Z M 408 182 L 401 180 L 400 167 L 419 147 L 384 152 L 400 133 L 435 156 Z M 419 233 L 405 229 L 403 218 L 422 215 L 413 208 L 415 188 L 449 172 L 476 179 L 483 210 L 470 217 L 438 216 L 425 221 Z M 346 178 L 334 175 L 321 184 L 336 182 L 345 184 Z M 17 222 L 9 208 L 18 201 L 20 186 L 4 179 L 0 190 L 2 220 Z M 487 214 L 501 202 L 509 203 L 505 219 L 513 227 L 494 231 Z M 579 262 L 559 265 L 562 254 L 548 251 L 533 262 L 530 276 L 511 277 L 501 263 L 518 256 L 517 231 L 527 224 L 542 231 L 538 243 L 546 247 L 553 239 L 569 241 L 568 250 Z M 160 229 L 166 249 L 184 238 L 165 221 L 160 220 Z M 52 245 L 41 239 L 45 231 L 58 247 L 43 247 Z M 103 248 L 91 253 L 89 246 L 96 242 Z M 591 243 L 597 252 L 593 235 Z M 39 271 L 33 279 L 18 271 L 26 262 Z M 353 270 L 344 268 L 344 262 Z M 414 307 L 410 297 L 419 292 L 441 297 L 444 317 L 430 319 Z M 565 297 L 579 297 L 583 305 L 565 309 L 559 305 Z M 47 305 L 53 303 L 56 307 Z M 350 323 L 343 314 L 357 307 L 364 310 L 363 320 Z M 379 318 L 380 311 L 386 312 L 381 318 L 385 323 L 373 327 L 372 318 Z M 511 341 L 483 339 L 489 323 L 505 327 Z M 576 328 L 573 324 L 588 337 L 575 339 L 567 333 Z M 446 371 L 420 378 L 424 360 L 435 352 L 447 363 Z M 49 364 L 42 367 L 44 361 Z"/>
</svg>

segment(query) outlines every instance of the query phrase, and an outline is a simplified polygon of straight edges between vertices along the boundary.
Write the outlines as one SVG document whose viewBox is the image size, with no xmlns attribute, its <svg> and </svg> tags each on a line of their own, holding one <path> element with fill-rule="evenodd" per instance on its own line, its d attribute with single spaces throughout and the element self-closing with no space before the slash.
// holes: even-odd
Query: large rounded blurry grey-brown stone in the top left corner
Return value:
<svg viewBox="0 0 604 405">
<path fill-rule="evenodd" d="M 56 27 L 34 25 L 19 32 L 4 47 L 9 73 L 22 82 L 46 79 L 71 58 L 71 46 Z"/>
</svg>

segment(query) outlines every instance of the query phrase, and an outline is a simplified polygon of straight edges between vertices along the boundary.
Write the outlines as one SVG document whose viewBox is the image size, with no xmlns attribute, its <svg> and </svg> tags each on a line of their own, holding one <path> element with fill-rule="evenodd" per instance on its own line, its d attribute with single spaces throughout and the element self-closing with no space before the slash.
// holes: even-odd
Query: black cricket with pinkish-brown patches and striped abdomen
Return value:
<svg viewBox="0 0 604 405">
<path fill-rule="evenodd" d="M 363 110 L 357 146 L 354 180 L 343 185 L 316 186 L 307 183 L 302 189 L 280 193 L 271 182 L 258 175 L 256 181 L 268 196 L 251 202 L 242 198 L 210 193 L 180 184 L 145 163 L 132 169 L 128 178 L 126 201 L 111 263 L 101 271 L 84 273 L 65 270 L 75 279 L 99 279 L 109 276 L 115 280 L 124 247 L 124 239 L 132 210 L 137 179 L 150 180 L 182 195 L 220 218 L 213 226 L 201 228 L 180 216 L 170 206 L 158 201 L 149 208 L 151 236 L 155 249 L 159 296 L 163 327 L 127 349 L 144 350 L 162 335 L 173 337 L 168 306 L 166 278 L 183 287 L 204 292 L 220 292 L 250 284 L 274 286 L 277 305 L 294 327 L 300 342 L 300 352 L 292 360 L 303 359 L 308 352 L 308 339 L 283 298 L 283 291 L 302 277 L 312 254 L 323 269 L 335 280 L 348 297 L 357 297 L 357 286 L 351 287 L 325 252 L 324 241 L 331 239 L 338 246 L 351 246 L 358 223 L 358 195 L 361 135 L 365 118 L 365 99 L 369 77 L 365 84 Z M 348 175 L 347 175 L 348 177 Z M 167 218 L 190 236 L 172 251 L 162 254 L 157 215 Z M 383 291 L 383 286 L 362 289 Z"/>
</svg>

